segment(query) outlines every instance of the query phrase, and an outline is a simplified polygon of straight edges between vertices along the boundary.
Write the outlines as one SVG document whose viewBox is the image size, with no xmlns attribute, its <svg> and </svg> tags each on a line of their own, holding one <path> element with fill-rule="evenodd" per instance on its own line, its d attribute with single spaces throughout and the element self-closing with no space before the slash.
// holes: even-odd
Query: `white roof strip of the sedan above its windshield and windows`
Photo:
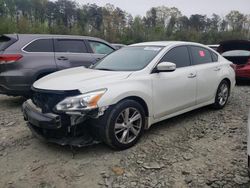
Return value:
<svg viewBox="0 0 250 188">
<path fill-rule="evenodd" d="M 142 42 L 142 43 L 137 43 L 137 44 L 132 44 L 130 46 L 169 46 L 169 45 L 198 45 L 198 46 L 203 46 L 205 45 L 200 44 L 200 43 L 195 43 L 195 42 L 186 42 L 186 41 L 153 41 L 153 42 Z"/>
</svg>

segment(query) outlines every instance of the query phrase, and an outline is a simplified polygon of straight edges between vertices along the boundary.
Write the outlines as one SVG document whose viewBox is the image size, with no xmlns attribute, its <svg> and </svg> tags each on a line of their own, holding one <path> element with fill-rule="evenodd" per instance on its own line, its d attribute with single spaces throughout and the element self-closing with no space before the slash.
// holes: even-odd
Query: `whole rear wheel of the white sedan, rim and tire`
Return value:
<svg viewBox="0 0 250 188">
<path fill-rule="evenodd" d="M 214 108 L 222 109 L 227 104 L 228 97 L 230 94 L 229 84 L 226 80 L 223 80 L 218 89 L 215 96 L 215 103 L 213 104 Z"/>
</svg>

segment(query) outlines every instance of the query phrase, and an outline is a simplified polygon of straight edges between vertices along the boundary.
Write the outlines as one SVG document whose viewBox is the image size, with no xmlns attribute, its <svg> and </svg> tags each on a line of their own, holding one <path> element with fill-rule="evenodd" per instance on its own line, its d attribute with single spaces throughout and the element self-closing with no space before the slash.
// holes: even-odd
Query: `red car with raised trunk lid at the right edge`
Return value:
<svg viewBox="0 0 250 188">
<path fill-rule="evenodd" d="M 224 41 L 217 51 L 235 64 L 237 80 L 250 80 L 250 41 Z"/>
</svg>

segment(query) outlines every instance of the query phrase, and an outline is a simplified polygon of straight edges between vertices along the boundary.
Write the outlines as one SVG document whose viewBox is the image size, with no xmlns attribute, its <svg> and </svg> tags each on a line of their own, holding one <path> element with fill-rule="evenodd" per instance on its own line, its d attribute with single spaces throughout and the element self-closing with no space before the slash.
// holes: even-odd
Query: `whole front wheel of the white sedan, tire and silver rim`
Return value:
<svg viewBox="0 0 250 188">
<path fill-rule="evenodd" d="M 145 127 L 145 111 L 136 101 L 123 100 L 100 120 L 99 134 L 114 149 L 132 147 L 140 139 Z"/>
</svg>

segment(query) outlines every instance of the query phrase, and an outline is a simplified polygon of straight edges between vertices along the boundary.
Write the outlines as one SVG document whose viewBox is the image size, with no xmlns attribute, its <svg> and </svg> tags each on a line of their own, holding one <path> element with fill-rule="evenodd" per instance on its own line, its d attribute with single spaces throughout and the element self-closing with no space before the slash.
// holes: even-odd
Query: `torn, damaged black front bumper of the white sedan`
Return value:
<svg viewBox="0 0 250 188">
<path fill-rule="evenodd" d="M 31 100 L 22 106 L 24 120 L 32 133 L 39 139 L 59 145 L 83 147 L 100 141 L 86 121 L 88 117 L 98 117 L 98 110 L 86 114 L 67 115 L 43 113 Z"/>
</svg>

